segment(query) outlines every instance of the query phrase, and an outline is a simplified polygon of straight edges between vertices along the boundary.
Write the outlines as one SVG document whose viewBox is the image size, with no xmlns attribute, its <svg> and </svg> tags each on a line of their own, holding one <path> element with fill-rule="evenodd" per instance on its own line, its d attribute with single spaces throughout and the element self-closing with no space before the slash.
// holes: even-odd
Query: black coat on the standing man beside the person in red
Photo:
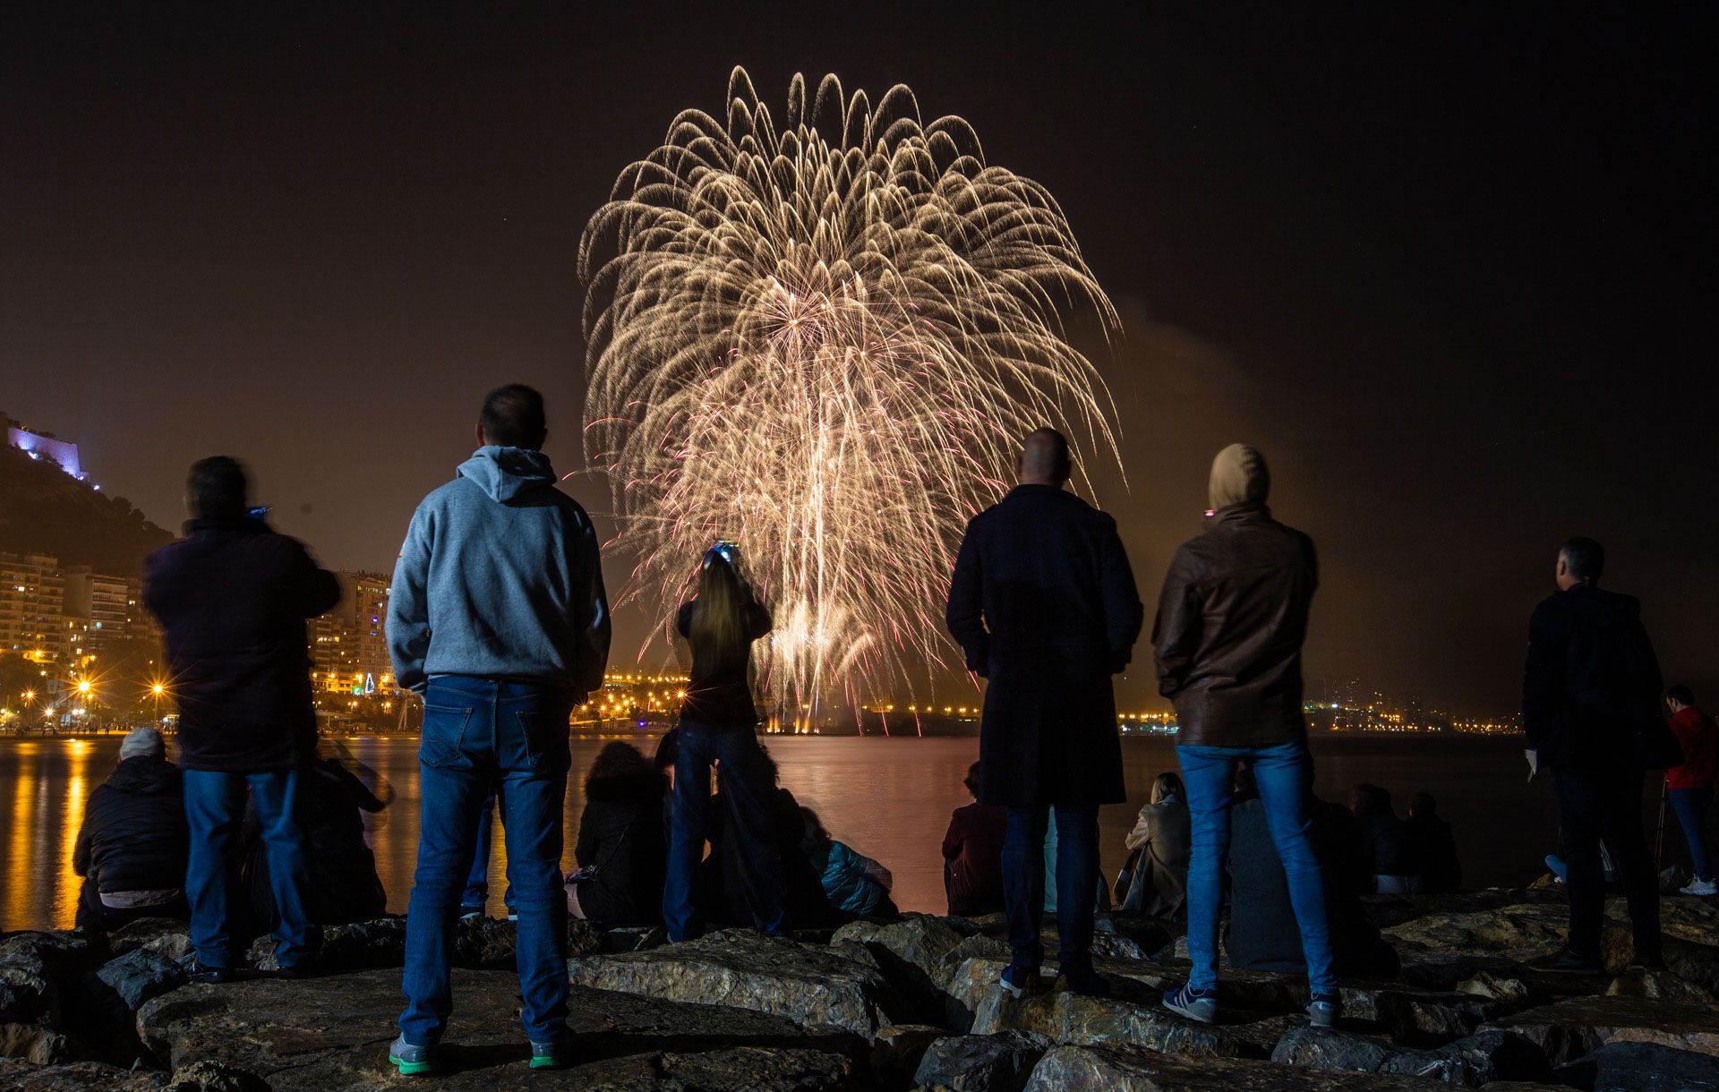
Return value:
<svg viewBox="0 0 1719 1092">
<path fill-rule="evenodd" d="M 1521 727 L 1540 765 L 1640 769 L 1636 733 L 1669 734 L 1661 690 L 1640 600 L 1576 585 L 1533 609 Z"/>
</svg>

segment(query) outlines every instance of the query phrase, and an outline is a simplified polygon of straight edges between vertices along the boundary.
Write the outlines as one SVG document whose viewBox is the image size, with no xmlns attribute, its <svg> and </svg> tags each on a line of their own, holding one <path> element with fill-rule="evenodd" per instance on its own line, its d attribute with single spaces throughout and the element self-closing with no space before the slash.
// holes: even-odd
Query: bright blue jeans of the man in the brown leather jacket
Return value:
<svg viewBox="0 0 1719 1092">
<path fill-rule="evenodd" d="M 1217 987 L 1217 920 L 1224 905 L 1224 856 L 1229 853 L 1229 805 L 1234 794 L 1236 762 L 1248 758 L 1265 803 L 1277 860 L 1289 882 L 1289 905 L 1301 929 L 1301 954 L 1313 994 L 1336 994 L 1331 929 L 1325 923 L 1325 882 L 1308 839 L 1308 798 L 1313 762 L 1305 743 L 1277 746 L 1178 746 L 1193 851 L 1188 860 L 1188 985 Z"/>
</svg>

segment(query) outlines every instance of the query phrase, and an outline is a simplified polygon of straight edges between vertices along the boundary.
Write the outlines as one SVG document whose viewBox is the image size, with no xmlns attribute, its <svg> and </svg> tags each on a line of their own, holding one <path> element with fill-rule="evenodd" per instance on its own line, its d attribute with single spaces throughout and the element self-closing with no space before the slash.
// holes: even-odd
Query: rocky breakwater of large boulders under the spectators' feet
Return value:
<svg viewBox="0 0 1719 1092">
<path fill-rule="evenodd" d="M 1337 1027 L 1308 1027 L 1305 984 L 1224 972 L 1215 1025 L 1159 1004 L 1181 980 L 1176 929 L 1100 923 L 1114 989 L 1014 1001 L 997 989 L 1002 923 L 909 915 L 830 934 L 729 930 L 669 946 L 660 930 L 571 927 L 569 1070 L 526 1068 L 512 929 L 461 923 L 442 1089 L 964 1092 L 1432 1089 L 1719 1092 L 1719 899 L 1667 898 L 1667 968 L 1607 973 L 1532 961 L 1563 937 L 1556 891 L 1380 899 L 1398 979 L 1346 980 Z M 1609 906 L 1612 918 L 1621 905 Z M 1049 925 L 1047 925 L 1049 927 Z M 328 973 L 186 982 L 184 927 L 0 936 L 3 1089 L 382 1089 L 399 1013 L 399 920 L 328 929 Z M 1054 948 L 1052 948 L 1054 949 Z M 1049 972 L 1054 970 L 1047 966 Z"/>
</svg>

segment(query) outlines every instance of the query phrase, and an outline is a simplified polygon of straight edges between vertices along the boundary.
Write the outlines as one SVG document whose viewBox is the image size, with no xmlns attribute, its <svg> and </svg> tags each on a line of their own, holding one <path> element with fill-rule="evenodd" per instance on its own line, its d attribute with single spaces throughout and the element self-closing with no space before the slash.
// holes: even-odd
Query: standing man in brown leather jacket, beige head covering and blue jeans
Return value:
<svg viewBox="0 0 1719 1092">
<path fill-rule="evenodd" d="M 1265 457 L 1231 444 L 1212 461 L 1207 530 L 1176 552 L 1152 643 L 1159 693 L 1176 703 L 1176 755 L 1188 788 L 1188 984 L 1164 1004 L 1217 1018 L 1217 922 L 1236 764 L 1248 762 L 1289 880 L 1312 987 L 1308 1016 L 1337 1016 L 1325 886 L 1308 839 L 1313 762 L 1301 717 L 1301 640 L 1318 583 L 1313 542 L 1265 507 Z"/>
</svg>

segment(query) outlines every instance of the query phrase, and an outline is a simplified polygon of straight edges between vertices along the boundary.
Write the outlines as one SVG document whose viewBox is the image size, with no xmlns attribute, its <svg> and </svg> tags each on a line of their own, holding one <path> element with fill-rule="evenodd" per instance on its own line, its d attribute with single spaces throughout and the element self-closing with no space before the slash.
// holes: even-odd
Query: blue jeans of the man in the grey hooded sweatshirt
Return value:
<svg viewBox="0 0 1719 1092">
<path fill-rule="evenodd" d="M 423 819 L 418 872 L 406 911 L 406 1011 L 411 1046 L 440 1040 L 454 994 L 454 922 L 471 874 L 478 813 L 493 793 L 507 837 L 507 882 L 519 906 L 514 958 L 521 1023 L 531 1042 L 554 1042 L 567 1027 L 567 894 L 560 877 L 562 807 L 567 796 L 564 690 L 435 676 L 425 690 Z"/>
</svg>

